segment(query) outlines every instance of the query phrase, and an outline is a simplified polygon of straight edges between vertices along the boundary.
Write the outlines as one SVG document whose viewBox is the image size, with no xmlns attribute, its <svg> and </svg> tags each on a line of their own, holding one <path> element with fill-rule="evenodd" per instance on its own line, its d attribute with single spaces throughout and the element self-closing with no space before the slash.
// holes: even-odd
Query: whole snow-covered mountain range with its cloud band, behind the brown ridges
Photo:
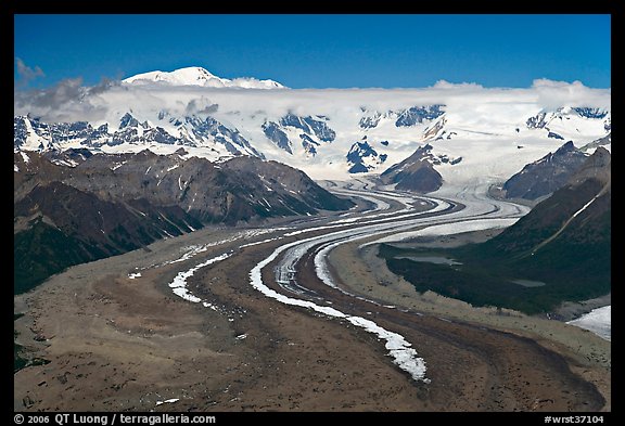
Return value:
<svg viewBox="0 0 625 426">
<path fill-rule="evenodd" d="M 135 76 L 62 108 L 22 100 L 14 150 L 171 154 L 184 147 L 187 158 L 250 155 L 314 179 L 345 179 L 380 173 L 430 144 L 444 182 L 502 182 L 554 152 L 560 138 L 584 146 L 611 129 L 610 92 L 599 89 L 591 102 L 563 96 L 566 106 L 553 107 L 540 102 L 538 89 L 241 90 L 216 82 L 222 80 L 183 68 Z"/>
</svg>

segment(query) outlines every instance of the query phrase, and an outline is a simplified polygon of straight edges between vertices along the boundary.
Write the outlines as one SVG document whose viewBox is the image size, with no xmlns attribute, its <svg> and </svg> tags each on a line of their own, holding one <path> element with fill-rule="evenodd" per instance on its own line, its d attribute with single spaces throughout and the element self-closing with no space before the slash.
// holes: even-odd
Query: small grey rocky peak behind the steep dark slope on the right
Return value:
<svg viewBox="0 0 625 426">
<path fill-rule="evenodd" d="M 569 178 L 584 164 L 586 155 L 572 141 L 560 146 L 523 170 L 503 184 L 507 198 L 536 199 L 566 184 Z"/>
</svg>

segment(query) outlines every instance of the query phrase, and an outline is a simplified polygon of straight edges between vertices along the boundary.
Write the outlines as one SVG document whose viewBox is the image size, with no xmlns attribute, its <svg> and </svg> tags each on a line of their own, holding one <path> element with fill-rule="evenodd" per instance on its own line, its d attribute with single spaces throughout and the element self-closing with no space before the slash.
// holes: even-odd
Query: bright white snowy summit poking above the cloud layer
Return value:
<svg viewBox="0 0 625 426">
<path fill-rule="evenodd" d="M 221 78 L 213 75 L 200 66 L 190 66 L 167 72 L 150 72 L 137 74 L 123 80 L 126 85 L 161 83 L 167 86 L 201 86 L 208 88 L 242 88 L 242 89 L 285 89 L 273 80 L 258 80 L 256 78 Z"/>
</svg>

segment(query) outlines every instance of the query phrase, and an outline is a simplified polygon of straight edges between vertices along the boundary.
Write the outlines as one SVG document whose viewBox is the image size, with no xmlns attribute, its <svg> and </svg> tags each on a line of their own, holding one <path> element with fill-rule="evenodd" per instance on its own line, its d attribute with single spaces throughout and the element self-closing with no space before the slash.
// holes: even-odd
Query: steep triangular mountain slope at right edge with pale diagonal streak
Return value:
<svg viewBox="0 0 625 426">
<path fill-rule="evenodd" d="M 610 169 L 610 153 L 599 147 L 567 184 L 484 243 L 484 248 L 530 279 L 567 287 L 578 299 L 607 294 L 611 287 Z"/>
</svg>

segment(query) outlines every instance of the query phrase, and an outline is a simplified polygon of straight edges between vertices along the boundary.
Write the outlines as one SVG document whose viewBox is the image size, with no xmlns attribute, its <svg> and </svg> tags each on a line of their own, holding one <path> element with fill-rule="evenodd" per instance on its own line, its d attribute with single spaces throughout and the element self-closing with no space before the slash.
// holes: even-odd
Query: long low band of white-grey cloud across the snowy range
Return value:
<svg viewBox="0 0 625 426">
<path fill-rule="evenodd" d="M 53 88 L 16 91 L 15 114 L 30 113 L 44 120 L 91 120 L 116 124 L 132 111 L 138 119 L 153 119 L 160 111 L 171 115 L 215 114 L 237 126 L 237 117 L 263 115 L 277 119 L 288 112 L 298 115 L 342 116 L 358 121 L 360 106 L 371 111 L 398 111 L 414 105 L 445 104 L 449 113 L 488 119 L 493 112 L 536 114 L 560 106 L 610 107 L 610 89 L 592 89 L 579 81 L 537 79 L 531 88 L 484 88 L 474 82 L 451 83 L 439 80 L 421 89 L 215 89 L 202 87 L 127 86 L 107 82 L 80 86 L 68 79 Z M 508 113 L 506 113 L 508 111 Z M 353 117 L 353 118 L 349 118 Z M 524 120 L 527 117 L 518 117 Z"/>
</svg>

